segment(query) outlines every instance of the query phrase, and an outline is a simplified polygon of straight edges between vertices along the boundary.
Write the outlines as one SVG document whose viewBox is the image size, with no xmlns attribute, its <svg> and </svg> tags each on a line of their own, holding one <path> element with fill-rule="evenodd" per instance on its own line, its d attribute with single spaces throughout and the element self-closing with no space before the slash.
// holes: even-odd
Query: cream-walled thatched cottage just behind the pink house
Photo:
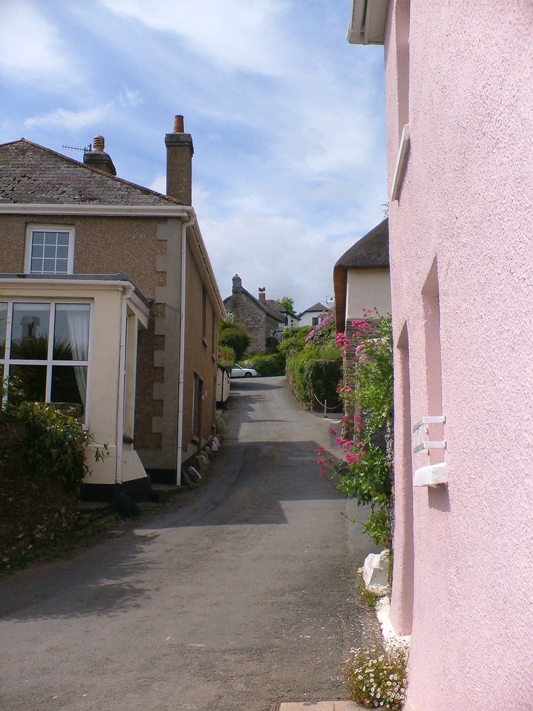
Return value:
<svg viewBox="0 0 533 711">
<path fill-rule="evenodd" d="M 391 313 L 389 220 L 355 242 L 333 267 L 335 321 L 338 333 L 350 335 L 351 323 L 363 309 Z"/>
</svg>

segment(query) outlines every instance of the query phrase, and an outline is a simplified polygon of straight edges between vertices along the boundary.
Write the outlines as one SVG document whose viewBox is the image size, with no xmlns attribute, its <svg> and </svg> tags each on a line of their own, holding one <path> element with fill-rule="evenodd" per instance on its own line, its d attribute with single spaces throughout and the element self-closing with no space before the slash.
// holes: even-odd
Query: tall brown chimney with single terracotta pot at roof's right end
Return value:
<svg viewBox="0 0 533 711">
<path fill-rule="evenodd" d="M 193 139 L 185 133 L 183 116 L 174 118 L 174 132 L 166 134 L 166 194 L 181 205 L 193 204 Z"/>
</svg>

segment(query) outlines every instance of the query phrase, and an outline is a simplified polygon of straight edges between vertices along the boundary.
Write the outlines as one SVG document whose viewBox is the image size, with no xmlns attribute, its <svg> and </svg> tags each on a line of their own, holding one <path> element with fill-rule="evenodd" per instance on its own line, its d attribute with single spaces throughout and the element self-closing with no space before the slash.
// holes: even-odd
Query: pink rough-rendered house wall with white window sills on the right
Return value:
<svg viewBox="0 0 533 711">
<path fill-rule="evenodd" d="M 408 711 L 533 708 L 532 38 L 530 0 L 353 1 L 385 55 Z"/>
</svg>

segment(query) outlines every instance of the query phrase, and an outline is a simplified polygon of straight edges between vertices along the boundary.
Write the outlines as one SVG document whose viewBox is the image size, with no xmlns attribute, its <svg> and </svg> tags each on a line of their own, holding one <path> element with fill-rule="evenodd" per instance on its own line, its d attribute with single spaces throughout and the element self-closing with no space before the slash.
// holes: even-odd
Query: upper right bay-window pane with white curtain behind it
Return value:
<svg viewBox="0 0 533 711">
<path fill-rule="evenodd" d="M 55 306 L 54 360 L 88 359 L 89 319 L 89 304 Z"/>
</svg>

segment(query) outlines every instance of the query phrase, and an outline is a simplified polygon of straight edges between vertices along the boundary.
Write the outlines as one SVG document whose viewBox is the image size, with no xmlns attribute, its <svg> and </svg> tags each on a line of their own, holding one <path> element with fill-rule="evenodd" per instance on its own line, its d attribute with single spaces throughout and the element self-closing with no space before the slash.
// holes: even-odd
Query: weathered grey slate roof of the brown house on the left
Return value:
<svg viewBox="0 0 533 711">
<path fill-rule="evenodd" d="M 0 144 L 0 205 L 2 203 L 178 204 L 173 198 L 26 139 Z"/>
</svg>

